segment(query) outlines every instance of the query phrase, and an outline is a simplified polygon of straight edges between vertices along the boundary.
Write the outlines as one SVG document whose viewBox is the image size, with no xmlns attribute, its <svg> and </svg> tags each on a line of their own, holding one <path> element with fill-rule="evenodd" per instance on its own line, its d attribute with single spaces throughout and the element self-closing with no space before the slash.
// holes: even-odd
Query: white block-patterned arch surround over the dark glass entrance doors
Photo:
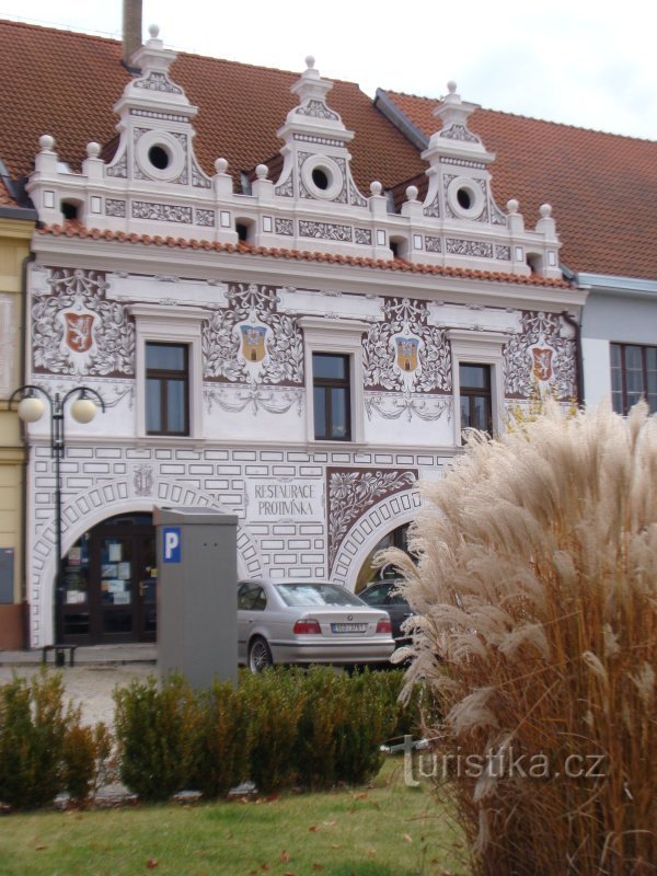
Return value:
<svg viewBox="0 0 657 876">
<path fill-rule="evenodd" d="M 160 481 L 157 495 L 136 496 L 132 483 L 126 477 L 95 484 L 78 493 L 61 508 L 61 549 L 64 554 L 87 531 L 117 514 L 150 514 L 161 505 L 188 505 L 216 508 L 223 514 L 234 514 L 212 495 L 194 489 L 186 484 Z M 257 546 L 244 527 L 238 525 L 238 577 L 254 578 L 263 568 Z M 53 639 L 53 600 L 57 561 L 55 556 L 55 521 L 33 535 L 30 550 L 30 627 L 33 647 Z"/>
</svg>

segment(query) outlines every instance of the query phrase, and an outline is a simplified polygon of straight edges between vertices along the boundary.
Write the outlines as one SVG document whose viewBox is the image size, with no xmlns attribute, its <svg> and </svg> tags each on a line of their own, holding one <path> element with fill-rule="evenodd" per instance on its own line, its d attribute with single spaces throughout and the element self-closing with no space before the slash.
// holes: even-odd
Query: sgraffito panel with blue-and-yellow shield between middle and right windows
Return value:
<svg viewBox="0 0 657 876">
<path fill-rule="evenodd" d="M 443 328 L 428 324 L 426 302 L 387 298 L 383 320 L 364 341 L 365 387 L 419 393 L 451 391 L 450 349 Z"/>
</svg>

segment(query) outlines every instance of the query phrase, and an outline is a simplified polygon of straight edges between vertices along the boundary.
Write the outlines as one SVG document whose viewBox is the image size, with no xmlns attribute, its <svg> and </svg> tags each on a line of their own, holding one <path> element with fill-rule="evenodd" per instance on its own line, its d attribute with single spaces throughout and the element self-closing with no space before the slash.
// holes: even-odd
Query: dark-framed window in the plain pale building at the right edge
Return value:
<svg viewBox="0 0 657 876">
<path fill-rule="evenodd" d="M 611 344 L 611 400 L 616 414 L 627 414 L 642 399 L 657 411 L 657 347 Z"/>
</svg>

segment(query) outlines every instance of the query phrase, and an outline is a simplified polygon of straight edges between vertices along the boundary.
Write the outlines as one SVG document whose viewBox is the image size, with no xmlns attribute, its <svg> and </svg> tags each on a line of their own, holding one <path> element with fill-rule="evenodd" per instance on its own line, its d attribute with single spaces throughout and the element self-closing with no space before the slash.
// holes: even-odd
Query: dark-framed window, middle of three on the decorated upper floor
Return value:
<svg viewBox="0 0 657 876">
<path fill-rule="evenodd" d="M 319 440 L 351 439 L 349 357 L 312 354 L 314 437 Z"/>
</svg>

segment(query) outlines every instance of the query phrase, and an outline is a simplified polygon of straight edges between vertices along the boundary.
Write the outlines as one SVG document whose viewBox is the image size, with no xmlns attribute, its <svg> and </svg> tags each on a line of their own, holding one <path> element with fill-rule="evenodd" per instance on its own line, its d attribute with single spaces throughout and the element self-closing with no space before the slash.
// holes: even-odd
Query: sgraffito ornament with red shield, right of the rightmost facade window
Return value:
<svg viewBox="0 0 657 876">
<path fill-rule="evenodd" d="M 575 337 L 558 313 L 523 311 L 522 330 L 505 346 L 505 395 L 563 401 L 576 394 Z"/>
</svg>

